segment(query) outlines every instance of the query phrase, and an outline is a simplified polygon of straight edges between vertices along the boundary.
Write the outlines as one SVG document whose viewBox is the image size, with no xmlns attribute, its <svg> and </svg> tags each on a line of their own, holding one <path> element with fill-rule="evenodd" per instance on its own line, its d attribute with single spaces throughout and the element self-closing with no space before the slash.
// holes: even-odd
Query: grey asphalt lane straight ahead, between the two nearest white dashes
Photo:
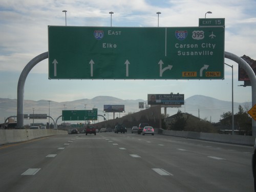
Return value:
<svg viewBox="0 0 256 192">
<path fill-rule="evenodd" d="M 110 141 L 77 138 L 28 178 L 22 191 L 169 191 L 172 184 L 145 165 L 138 166 L 136 159 Z"/>
</svg>

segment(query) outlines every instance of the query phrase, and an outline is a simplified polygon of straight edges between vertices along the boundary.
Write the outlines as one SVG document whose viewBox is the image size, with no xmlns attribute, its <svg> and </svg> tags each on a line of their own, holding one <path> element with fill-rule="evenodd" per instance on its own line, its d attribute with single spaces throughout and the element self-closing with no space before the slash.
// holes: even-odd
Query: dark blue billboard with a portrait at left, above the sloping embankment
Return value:
<svg viewBox="0 0 256 192">
<path fill-rule="evenodd" d="M 147 94 L 147 104 L 181 105 L 184 104 L 184 94 Z"/>
</svg>

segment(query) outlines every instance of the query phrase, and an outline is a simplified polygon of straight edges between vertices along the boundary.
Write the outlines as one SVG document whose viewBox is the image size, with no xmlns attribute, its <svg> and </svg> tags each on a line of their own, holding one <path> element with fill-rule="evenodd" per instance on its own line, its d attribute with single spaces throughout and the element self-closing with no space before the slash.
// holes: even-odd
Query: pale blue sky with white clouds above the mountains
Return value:
<svg viewBox="0 0 256 192">
<path fill-rule="evenodd" d="M 17 98 L 17 82 L 27 63 L 48 51 L 48 26 L 198 27 L 199 18 L 225 18 L 225 51 L 256 60 L 256 1 L 153 0 L 2 0 L 0 2 L 0 98 Z M 250 102 L 251 87 L 238 81 L 233 65 L 234 101 Z M 182 93 L 231 101 L 231 68 L 224 80 L 49 80 L 48 59 L 29 73 L 24 99 L 71 101 L 96 96 L 147 99 L 147 94 Z"/>
</svg>

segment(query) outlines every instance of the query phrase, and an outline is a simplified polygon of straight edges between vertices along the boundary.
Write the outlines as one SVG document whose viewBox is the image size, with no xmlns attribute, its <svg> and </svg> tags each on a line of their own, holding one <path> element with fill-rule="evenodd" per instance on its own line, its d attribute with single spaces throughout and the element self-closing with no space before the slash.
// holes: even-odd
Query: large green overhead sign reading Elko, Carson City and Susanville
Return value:
<svg viewBox="0 0 256 192">
<path fill-rule="evenodd" d="M 223 79 L 224 27 L 49 26 L 50 79 Z"/>
</svg>

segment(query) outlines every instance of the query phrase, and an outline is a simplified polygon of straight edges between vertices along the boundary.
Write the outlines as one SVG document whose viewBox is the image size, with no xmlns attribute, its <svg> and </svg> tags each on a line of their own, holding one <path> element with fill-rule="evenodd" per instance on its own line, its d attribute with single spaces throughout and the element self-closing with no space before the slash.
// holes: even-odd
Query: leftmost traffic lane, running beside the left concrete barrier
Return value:
<svg viewBox="0 0 256 192">
<path fill-rule="evenodd" d="M 67 137 L 45 137 L 31 141 L 12 143 L 0 147 L 0 188 L 1 191 L 15 191 L 16 184 L 23 178 L 20 175 L 29 168 L 47 164 L 51 161 L 46 158 L 49 154 L 58 154 L 58 147 L 65 146 L 71 139 Z M 18 191 L 18 190 L 17 190 Z"/>
</svg>

